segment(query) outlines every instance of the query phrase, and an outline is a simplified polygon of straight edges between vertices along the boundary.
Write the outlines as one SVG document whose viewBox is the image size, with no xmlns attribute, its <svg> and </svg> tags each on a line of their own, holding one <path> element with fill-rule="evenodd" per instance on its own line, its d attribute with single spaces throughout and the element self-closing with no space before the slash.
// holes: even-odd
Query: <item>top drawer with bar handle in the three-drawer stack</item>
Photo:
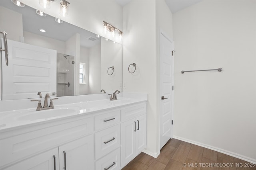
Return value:
<svg viewBox="0 0 256 170">
<path fill-rule="evenodd" d="M 111 111 L 95 116 L 95 130 L 104 129 L 120 122 L 120 110 Z"/>
</svg>

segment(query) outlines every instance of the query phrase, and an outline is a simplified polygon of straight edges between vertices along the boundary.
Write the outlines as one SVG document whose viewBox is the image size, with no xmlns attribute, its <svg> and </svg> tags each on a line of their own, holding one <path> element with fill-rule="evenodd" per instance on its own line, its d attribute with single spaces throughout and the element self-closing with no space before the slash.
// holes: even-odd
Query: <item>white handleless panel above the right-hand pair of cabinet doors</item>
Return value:
<svg viewBox="0 0 256 170">
<path fill-rule="evenodd" d="M 132 119 L 137 117 L 138 115 L 142 115 L 147 112 L 146 103 L 132 105 L 130 107 L 121 109 L 121 121 L 125 121 L 128 119 Z"/>
</svg>

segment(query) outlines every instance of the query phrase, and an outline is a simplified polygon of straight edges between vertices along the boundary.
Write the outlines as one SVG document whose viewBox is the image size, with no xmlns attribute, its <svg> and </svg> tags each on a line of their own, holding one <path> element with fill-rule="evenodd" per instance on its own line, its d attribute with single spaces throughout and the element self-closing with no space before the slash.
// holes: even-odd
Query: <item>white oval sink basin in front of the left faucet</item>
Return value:
<svg viewBox="0 0 256 170">
<path fill-rule="evenodd" d="M 37 120 L 37 119 L 48 119 L 52 117 L 59 117 L 64 115 L 73 115 L 79 113 L 80 107 L 57 107 L 49 110 L 41 111 L 29 111 L 28 114 L 18 117 L 18 120 Z"/>
</svg>

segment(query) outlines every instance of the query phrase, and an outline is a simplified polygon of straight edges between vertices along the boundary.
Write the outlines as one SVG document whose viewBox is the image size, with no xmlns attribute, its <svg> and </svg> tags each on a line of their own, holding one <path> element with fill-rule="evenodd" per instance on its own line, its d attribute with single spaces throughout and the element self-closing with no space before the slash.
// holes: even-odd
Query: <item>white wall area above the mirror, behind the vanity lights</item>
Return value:
<svg viewBox="0 0 256 170">
<path fill-rule="evenodd" d="M 59 1 L 52 2 L 50 9 L 44 9 L 38 0 L 20 0 L 20 2 L 95 34 L 120 42 L 103 33 L 103 20 L 122 30 L 122 7 L 115 0 L 70 0 L 67 17 L 60 16 Z"/>
</svg>

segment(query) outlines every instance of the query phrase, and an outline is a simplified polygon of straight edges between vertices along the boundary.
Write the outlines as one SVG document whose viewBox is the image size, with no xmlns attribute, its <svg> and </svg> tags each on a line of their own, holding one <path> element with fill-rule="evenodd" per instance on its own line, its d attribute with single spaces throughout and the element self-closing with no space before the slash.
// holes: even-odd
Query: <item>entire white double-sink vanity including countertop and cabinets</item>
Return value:
<svg viewBox="0 0 256 170">
<path fill-rule="evenodd" d="M 60 97 L 45 111 L 2 108 L 1 170 L 120 170 L 146 148 L 147 94 L 107 98 Z"/>
</svg>

